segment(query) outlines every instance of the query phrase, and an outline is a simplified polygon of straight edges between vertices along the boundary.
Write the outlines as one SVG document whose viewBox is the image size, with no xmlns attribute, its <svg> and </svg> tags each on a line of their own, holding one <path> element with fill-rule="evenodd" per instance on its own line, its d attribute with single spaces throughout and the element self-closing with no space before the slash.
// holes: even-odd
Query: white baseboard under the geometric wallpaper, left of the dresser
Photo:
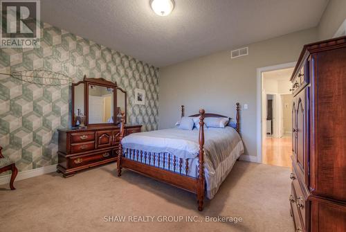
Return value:
<svg viewBox="0 0 346 232">
<path fill-rule="evenodd" d="M 44 175 L 46 173 L 55 172 L 57 170 L 57 165 L 45 166 L 41 168 L 35 168 L 32 170 L 26 170 L 23 172 L 18 172 L 18 175 L 15 181 L 20 181 L 21 179 L 28 179 L 30 177 L 37 177 L 39 175 Z M 4 175 L 0 177 L 0 184 L 8 184 L 10 183 L 11 174 Z"/>
</svg>

